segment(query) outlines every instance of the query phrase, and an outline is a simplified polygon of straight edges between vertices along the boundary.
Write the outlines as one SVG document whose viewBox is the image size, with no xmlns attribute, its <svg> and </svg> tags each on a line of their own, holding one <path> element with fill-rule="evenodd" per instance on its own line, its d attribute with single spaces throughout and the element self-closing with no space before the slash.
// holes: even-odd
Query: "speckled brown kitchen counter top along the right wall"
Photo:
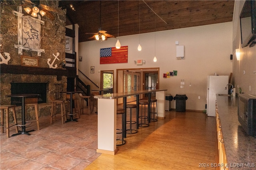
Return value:
<svg viewBox="0 0 256 170">
<path fill-rule="evenodd" d="M 238 122 L 238 97 L 216 95 L 216 99 L 229 168 L 255 169 L 256 137 L 246 134 Z"/>
</svg>

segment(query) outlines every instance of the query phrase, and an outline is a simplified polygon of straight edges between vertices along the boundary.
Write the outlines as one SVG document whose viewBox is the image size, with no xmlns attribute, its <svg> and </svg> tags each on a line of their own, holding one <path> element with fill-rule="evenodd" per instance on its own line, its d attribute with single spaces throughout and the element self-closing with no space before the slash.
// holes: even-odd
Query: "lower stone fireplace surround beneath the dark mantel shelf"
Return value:
<svg viewBox="0 0 256 170">
<path fill-rule="evenodd" d="M 32 83 L 33 82 L 33 83 Z M 12 94 L 12 88 L 17 85 L 42 85 L 45 86 L 45 101 L 38 100 L 38 108 L 39 108 L 39 117 L 50 115 L 51 103 L 49 101 L 49 97 L 52 96 L 55 98 L 56 96 L 56 83 L 61 84 L 63 89 L 66 90 L 67 86 L 67 77 L 62 76 L 61 80 L 57 80 L 56 75 L 30 75 L 30 74 L 9 74 L 9 73 L 1 73 L 1 105 L 10 105 L 12 103 L 11 97 L 6 97 L 6 95 Z M 14 86 L 13 86 L 14 85 Z M 31 86 L 32 87 L 32 86 Z M 26 91 L 20 89 L 21 91 L 14 91 L 14 93 L 42 93 L 40 89 L 35 88 L 27 88 Z M 38 91 L 39 90 L 39 91 Z M 64 94 L 64 93 L 63 93 Z M 61 99 L 66 99 L 65 95 L 60 93 Z M 16 101 L 15 101 L 16 102 Z M 21 106 L 19 103 L 12 103 L 17 105 L 16 107 L 16 115 L 17 119 L 21 119 Z M 12 114 L 10 114 L 12 117 Z M 28 107 L 28 111 L 26 112 L 27 119 L 34 119 L 35 113 L 32 107 Z M 13 119 L 10 119 L 12 122 Z"/>
</svg>

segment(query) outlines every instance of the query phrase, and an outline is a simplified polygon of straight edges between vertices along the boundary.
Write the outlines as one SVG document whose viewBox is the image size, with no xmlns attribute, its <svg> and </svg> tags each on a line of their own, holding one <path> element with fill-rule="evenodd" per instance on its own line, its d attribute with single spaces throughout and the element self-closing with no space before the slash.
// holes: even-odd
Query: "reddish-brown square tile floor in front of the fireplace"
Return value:
<svg viewBox="0 0 256 170">
<path fill-rule="evenodd" d="M 50 116 L 39 118 L 26 130 L 31 135 L 21 134 L 6 138 L 0 135 L 1 170 L 82 170 L 94 161 L 100 153 L 97 148 L 97 115 L 86 111 L 78 122 L 62 124 L 60 114 L 50 125 Z M 4 124 L 5 125 L 5 124 Z M 19 129 L 20 130 L 20 129 Z M 4 130 L 5 131 L 5 130 Z M 10 128 L 10 136 L 15 134 Z"/>
</svg>

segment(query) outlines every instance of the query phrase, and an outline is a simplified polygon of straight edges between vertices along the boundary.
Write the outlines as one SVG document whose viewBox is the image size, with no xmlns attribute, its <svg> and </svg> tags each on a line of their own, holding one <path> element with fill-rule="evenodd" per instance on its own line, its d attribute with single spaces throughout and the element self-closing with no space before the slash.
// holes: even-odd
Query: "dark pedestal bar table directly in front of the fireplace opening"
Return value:
<svg viewBox="0 0 256 170">
<path fill-rule="evenodd" d="M 32 132 L 34 130 L 29 130 L 26 131 L 26 114 L 25 114 L 25 98 L 32 98 L 32 97 L 38 97 L 39 94 L 12 94 L 12 95 L 7 95 L 7 97 L 18 97 L 18 98 L 22 98 L 22 105 L 21 105 L 21 118 L 22 118 L 22 125 L 16 125 L 16 126 L 20 126 L 22 128 L 22 131 L 19 130 L 18 133 L 13 134 L 12 136 L 16 136 L 19 134 L 27 134 L 30 135 L 29 132 Z"/>
</svg>

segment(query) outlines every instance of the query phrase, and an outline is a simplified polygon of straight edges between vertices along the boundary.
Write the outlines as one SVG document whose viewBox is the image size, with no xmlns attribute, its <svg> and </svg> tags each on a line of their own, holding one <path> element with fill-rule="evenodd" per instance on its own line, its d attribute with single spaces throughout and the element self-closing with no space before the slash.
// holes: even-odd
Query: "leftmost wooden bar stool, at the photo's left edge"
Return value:
<svg viewBox="0 0 256 170">
<path fill-rule="evenodd" d="M 18 133 L 18 127 L 17 125 L 17 118 L 16 118 L 16 110 L 15 110 L 16 105 L 0 105 L 0 110 L 1 110 L 1 132 L 4 133 L 4 111 L 5 116 L 6 116 L 6 136 L 7 138 L 10 137 L 10 132 L 9 132 L 9 109 L 12 109 L 13 113 L 13 119 L 15 125 L 12 125 L 11 127 L 15 126 L 16 132 Z"/>
</svg>

